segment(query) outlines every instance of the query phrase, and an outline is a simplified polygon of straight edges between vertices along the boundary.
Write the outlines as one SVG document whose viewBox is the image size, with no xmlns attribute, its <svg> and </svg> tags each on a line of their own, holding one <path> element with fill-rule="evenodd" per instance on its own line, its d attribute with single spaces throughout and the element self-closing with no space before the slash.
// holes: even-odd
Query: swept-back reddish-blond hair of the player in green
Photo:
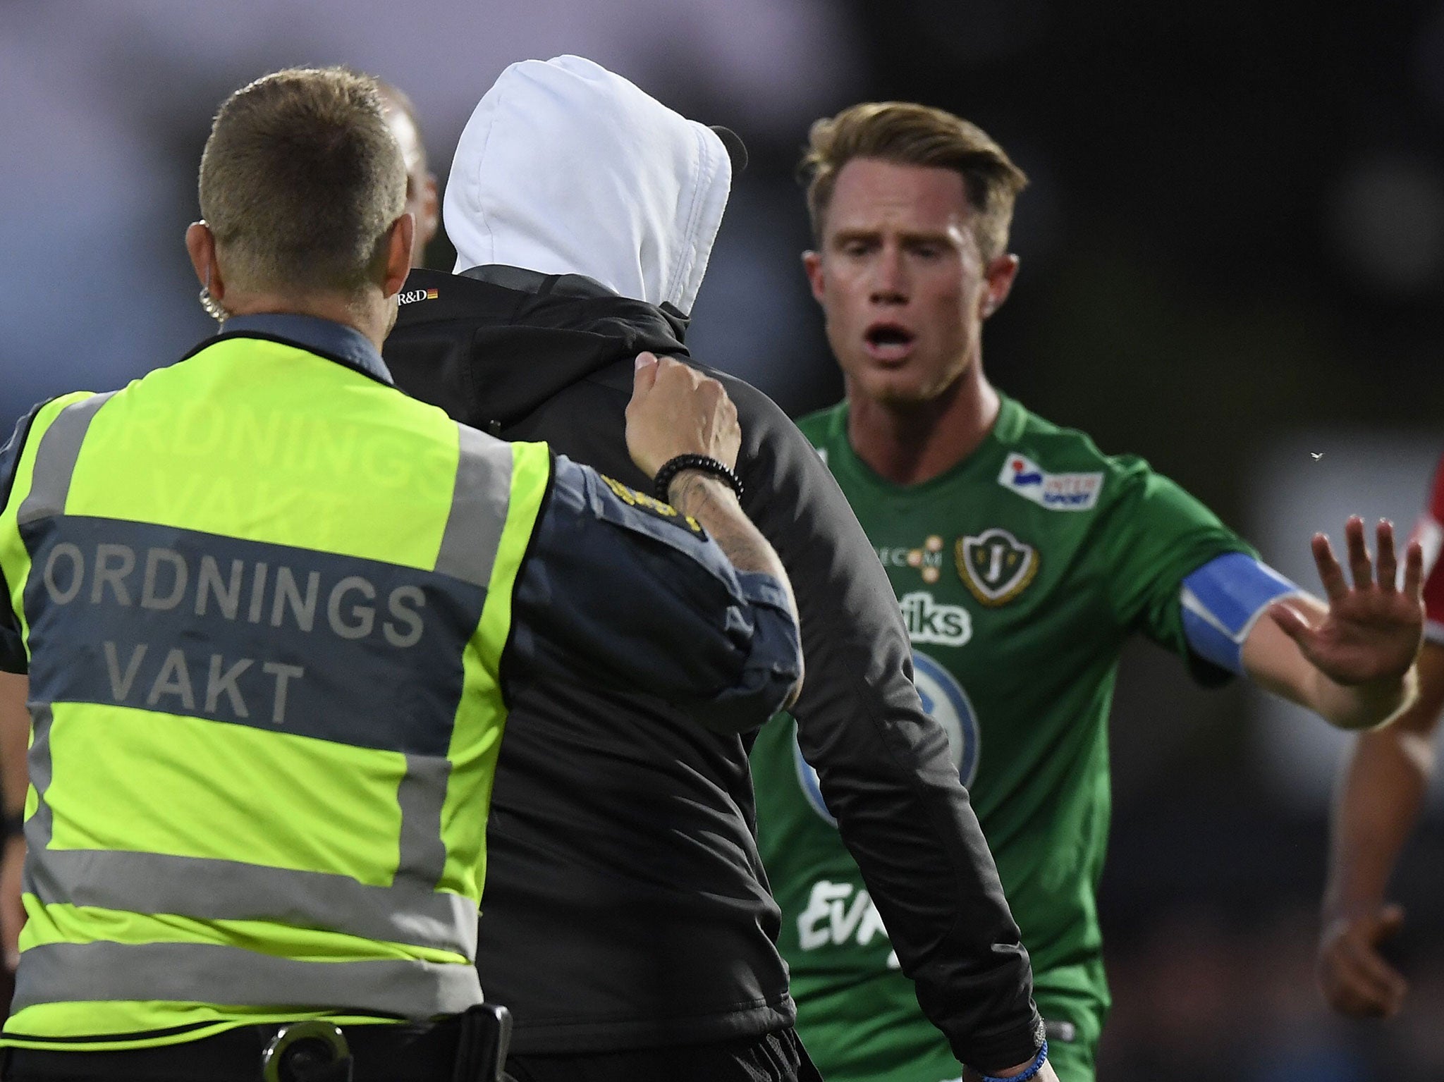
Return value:
<svg viewBox="0 0 1444 1082">
<path fill-rule="evenodd" d="M 1008 250 L 1012 205 L 1028 177 L 976 124 L 911 101 L 865 101 L 813 123 L 797 175 L 819 245 L 838 173 L 855 157 L 959 173 L 976 212 L 973 235 L 983 260 Z"/>
</svg>

